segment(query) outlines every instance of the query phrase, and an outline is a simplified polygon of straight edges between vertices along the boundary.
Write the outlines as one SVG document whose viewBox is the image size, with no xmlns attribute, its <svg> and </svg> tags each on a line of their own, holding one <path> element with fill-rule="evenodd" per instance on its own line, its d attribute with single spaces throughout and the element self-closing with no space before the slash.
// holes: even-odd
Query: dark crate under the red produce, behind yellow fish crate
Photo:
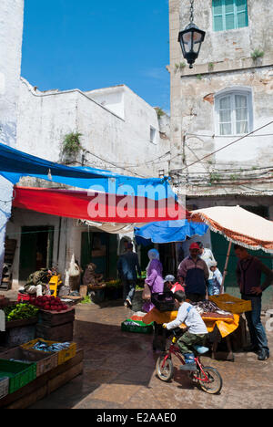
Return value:
<svg viewBox="0 0 273 427">
<path fill-rule="evenodd" d="M 73 327 L 74 322 L 68 322 L 64 325 L 57 325 L 54 327 L 37 324 L 36 337 L 58 342 L 73 341 Z"/>
</svg>

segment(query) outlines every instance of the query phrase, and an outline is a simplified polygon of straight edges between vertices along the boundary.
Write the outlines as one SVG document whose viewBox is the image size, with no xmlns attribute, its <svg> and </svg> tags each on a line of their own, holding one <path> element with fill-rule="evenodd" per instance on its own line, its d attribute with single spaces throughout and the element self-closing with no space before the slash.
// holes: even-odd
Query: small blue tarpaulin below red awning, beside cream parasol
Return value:
<svg viewBox="0 0 273 427">
<path fill-rule="evenodd" d="M 136 244 L 147 246 L 153 243 L 183 242 L 187 237 L 206 234 L 207 228 L 207 224 L 194 223 L 187 219 L 149 223 L 135 228 Z"/>
</svg>

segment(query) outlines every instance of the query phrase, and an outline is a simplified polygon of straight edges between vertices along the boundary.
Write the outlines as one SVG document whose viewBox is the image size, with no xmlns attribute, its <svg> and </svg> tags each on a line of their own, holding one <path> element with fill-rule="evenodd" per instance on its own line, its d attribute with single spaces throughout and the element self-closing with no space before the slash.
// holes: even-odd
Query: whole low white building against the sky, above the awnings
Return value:
<svg viewBox="0 0 273 427">
<path fill-rule="evenodd" d="M 150 126 L 156 129 L 155 143 Z M 126 86 L 44 93 L 22 78 L 18 150 L 59 161 L 62 141 L 71 131 L 79 131 L 86 151 L 95 154 L 86 153 L 89 165 L 128 175 L 157 176 L 157 162 L 144 163 L 169 150 L 169 141 L 159 138 L 156 110 Z"/>
</svg>

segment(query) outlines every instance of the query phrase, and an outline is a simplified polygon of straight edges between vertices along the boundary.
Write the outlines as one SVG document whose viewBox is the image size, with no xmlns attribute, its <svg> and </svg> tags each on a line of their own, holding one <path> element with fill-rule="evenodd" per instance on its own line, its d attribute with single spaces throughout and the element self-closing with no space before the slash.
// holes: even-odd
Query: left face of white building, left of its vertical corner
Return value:
<svg viewBox="0 0 273 427">
<path fill-rule="evenodd" d="M 17 149 L 49 161 L 60 160 L 61 141 L 76 130 L 75 91 L 42 93 L 21 80 Z"/>
</svg>

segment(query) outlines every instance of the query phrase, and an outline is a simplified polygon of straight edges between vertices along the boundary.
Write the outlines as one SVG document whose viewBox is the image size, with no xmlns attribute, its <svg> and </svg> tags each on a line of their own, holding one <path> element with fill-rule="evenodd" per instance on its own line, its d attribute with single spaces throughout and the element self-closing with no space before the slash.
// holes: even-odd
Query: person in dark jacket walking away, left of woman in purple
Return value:
<svg viewBox="0 0 273 427">
<path fill-rule="evenodd" d="M 138 276 L 141 276 L 138 256 L 133 252 L 133 247 L 133 244 L 128 243 L 126 253 L 121 255 L 117 262 L 118 274 L 123 282 L 123 299 L 125 307 L 132 307 L 132 300 L 136 291 L 136 271 Z"/>
</svg>

